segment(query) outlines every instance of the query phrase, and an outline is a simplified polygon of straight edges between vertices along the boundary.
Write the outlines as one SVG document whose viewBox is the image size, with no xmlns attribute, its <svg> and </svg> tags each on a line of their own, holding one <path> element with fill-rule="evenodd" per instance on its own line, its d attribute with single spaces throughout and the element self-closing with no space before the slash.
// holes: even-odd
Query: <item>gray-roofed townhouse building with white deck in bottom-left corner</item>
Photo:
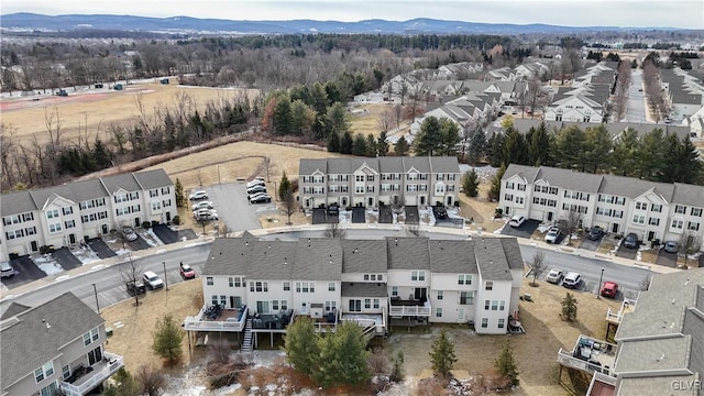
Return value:
<svg viewBox="0 0 704 396">
<path fill-rule="evenodd" d="M 124 365 L 106 351 L 105 320 L 72 293 L 0 320 L 2 395 L 82 396 Z"/>
</svg>

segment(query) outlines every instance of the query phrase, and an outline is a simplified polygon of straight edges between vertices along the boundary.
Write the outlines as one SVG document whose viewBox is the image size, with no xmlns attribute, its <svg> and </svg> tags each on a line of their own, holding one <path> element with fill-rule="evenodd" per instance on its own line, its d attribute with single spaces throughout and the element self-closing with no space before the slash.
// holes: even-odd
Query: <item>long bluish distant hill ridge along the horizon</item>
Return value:
<svg viewBox="0 0 704 396">
<path fill-rule="evenodd" d="M 133 15 L 43 15 L 12 13 L 1 15 L 4 30 L 75 31 L 97 29 L 110 31 L 138 31 L 162 33 L 245 33 L 245 34 L 300 34 L 300 33 L 381 33 L 381 34 L 534 34 L 583 33 L 596 31 L 644 31 L 653 28 L 617 26 L 558 26 L 548 24 L 474 23 L 418 18 L 408 21 L 365 20 L 359 22 L 290 20 L 290 21 L 231 21 L 190 16 L 147 18 Z M 659 28 L 659 30 L 675 30 Z"/>
</svg>

